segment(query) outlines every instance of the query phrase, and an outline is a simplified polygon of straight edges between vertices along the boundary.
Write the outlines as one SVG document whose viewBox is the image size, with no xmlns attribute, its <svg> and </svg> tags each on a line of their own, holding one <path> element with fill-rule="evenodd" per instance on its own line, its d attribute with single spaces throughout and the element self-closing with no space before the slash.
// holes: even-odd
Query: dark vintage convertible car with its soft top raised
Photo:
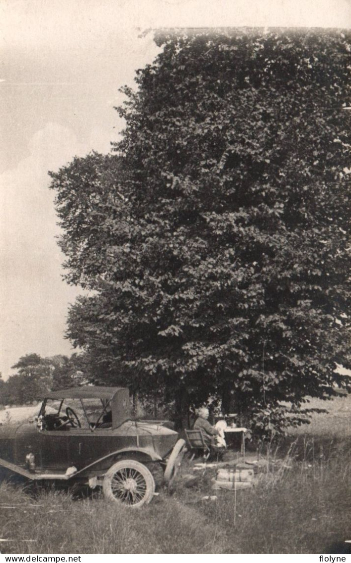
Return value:
<svg viewBox="0 0 351 563">
<path fill-rule="evenodd" d="M 125 387 L 52 391 L 37 417 L 0 426 L 0 468 L 31 480 L 102 486 L 131 507 L 149 503 L 155 475 L 173 479 L 185 441 L 160 421 L 132 419 Z"/>
</svg>

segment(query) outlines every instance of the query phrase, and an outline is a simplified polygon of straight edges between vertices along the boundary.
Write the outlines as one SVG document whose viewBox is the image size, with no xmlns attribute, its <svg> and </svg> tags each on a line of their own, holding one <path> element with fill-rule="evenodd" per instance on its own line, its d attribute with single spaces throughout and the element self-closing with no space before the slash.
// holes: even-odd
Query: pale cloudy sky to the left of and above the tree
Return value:
<svg viewBox="0 0 351 563">
<path fill-rule="evenodd" d="M 0 0 L 0 373 L 25 354 L 70 355 L 49 170 L 107 153 L 119 88 L 154 60 L 158 27 L 350 28 L 351 0 Z"/>
</svg>

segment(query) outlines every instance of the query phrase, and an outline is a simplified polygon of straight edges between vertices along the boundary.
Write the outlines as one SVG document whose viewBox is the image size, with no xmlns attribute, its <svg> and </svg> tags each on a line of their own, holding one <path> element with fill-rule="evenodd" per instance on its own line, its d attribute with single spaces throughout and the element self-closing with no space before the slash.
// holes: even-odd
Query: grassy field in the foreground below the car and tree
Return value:
<svg viewBox="0 0 351 563">
<path fill-rule="evenodd" d="M 312 405 L 312 406 L 320 406 Z M 172 491 L 128 510 L 54 489 L 0 487 L 4 553 L 341 553 L 351 539 L 351 397 L 323 403 L 307 428 L 271 444 L 253 489 L 213 491 L 186 459 Z M 257 455 L 253 453 L 251 455 Z M 199 474 L 200 473 L 200 474 Z M 195 475 L 195 473 L 194 473 Z M 203 497 L 216 495 L 211 501 Z M 346 544 L 347 545 L 347 544 Z"/>
</svg>

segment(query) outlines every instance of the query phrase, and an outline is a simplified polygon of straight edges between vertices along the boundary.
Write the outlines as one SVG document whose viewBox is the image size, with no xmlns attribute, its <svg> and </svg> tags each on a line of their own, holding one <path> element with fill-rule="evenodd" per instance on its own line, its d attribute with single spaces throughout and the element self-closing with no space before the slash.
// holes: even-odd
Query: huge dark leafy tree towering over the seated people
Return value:
<svg viewBox="0 0 351 563">
<path fill-rule="evenodd" d="M 51 173 L 96 381 L 257 427 L 349 386 L 349 32 L 160 32 L 114 154 Z M 99 372 L 100 369 L 100 372 Z M 291 419 L 290 419 L 291 420 Z"/>
</svg>

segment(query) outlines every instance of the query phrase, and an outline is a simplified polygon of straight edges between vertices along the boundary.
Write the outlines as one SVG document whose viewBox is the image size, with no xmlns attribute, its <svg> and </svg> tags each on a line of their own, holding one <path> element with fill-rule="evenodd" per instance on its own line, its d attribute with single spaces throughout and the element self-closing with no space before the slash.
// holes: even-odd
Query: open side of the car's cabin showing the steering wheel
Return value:
<svg viewBox="0 0 351 563">
<path fill-rule="evenodd" d="M 41 414 L 72 417 L 73 411 L 77 415 L 80 427 L 91 428 L 97 422 L 101 422 L 102 417 L 108 415 L 110 409 L 107 403 L 108 401 L 102 399 L 47 399 Z"/>
</svg>

